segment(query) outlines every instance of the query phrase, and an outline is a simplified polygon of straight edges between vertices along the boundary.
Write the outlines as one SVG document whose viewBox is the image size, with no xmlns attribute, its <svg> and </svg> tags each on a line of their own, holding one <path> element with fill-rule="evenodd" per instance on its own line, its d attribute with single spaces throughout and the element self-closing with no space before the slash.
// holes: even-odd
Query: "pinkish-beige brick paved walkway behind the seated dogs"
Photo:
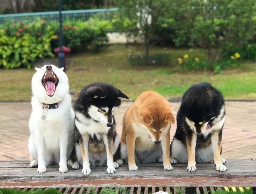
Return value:
<svg viewBox="0 0 256 194">
<path fill-rule="evenodd" d="M 123 102 L 116 111 L 117 132 L 132 102 Z M 171 103 L 176 116 L 180 103 Z M 0 160 L 28 160 L 29 102 L 0 102 Z M 256 102 L 226 102 L 226 124 L 223 129 L 223 158 L 256 158 Z M 176 126 L 171 129 L 172 136 Z"/>
</svg>

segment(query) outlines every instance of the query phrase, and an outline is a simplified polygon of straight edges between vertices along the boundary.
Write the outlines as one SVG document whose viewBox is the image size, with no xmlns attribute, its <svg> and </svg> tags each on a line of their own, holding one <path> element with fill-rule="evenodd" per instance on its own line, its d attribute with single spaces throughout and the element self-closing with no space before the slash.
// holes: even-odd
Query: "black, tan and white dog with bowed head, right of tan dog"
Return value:
<svg viewBox="0 0 256 194">
<path fill-rule="evenodd" d="M 170 145 L 172 163 L 187 163 L 187 171 L 196 171 L 196 162 L 215 163 L 226 172 L 221 158 L 225 102 L 221 92 L 207 83 L 191 86 L 185 92 L 177 114 L 177 129 Z"/>
</svg>

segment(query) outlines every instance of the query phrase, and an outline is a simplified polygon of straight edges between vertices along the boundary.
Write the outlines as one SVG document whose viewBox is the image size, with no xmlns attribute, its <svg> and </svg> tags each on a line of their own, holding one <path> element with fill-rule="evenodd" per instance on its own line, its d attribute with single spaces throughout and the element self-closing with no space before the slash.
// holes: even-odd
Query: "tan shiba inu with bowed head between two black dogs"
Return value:
<svg viewBox="0 0 256 194">
<path fill-rule="evenodd" d="M 121 159 L 127 162 L 128 157 L 129 170 L 138 170 L 136 163 L 156 161 L 163 162 L 165 170 L 173 170 L 169 146 L 174 123 L 170 104 L 163 96 L 146 91 L 138 97 L 123 119 Z"/>
</svg>

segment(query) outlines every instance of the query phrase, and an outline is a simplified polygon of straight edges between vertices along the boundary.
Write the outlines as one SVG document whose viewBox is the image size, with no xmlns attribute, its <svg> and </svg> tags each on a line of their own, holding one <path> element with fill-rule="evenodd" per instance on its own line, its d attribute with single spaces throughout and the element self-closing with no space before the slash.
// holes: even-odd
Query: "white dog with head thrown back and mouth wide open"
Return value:
<svg viewBox="0 0 256 194">
<path fill-rule="evenodd" d="M 29 120 L 30 167 L 45 173 L 46 166 L 59 163 L 67 172 L 67 159 L 75 145 L 74 111 L 71 108 L 68 77 L 63 68 L 45 65 L 32 78 L 32 113 Z M 73 164 L 68 160 L 68 165 Z"/>
</svg>

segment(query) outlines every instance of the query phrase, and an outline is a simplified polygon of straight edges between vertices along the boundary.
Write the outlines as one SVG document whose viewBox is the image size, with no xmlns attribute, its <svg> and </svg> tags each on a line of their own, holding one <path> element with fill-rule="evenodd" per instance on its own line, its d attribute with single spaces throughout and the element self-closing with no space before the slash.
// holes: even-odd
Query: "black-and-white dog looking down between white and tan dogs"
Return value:
<svg viewBox="0 0 256 194">
<path fill-rule="evenodd" d="M 76 154 L 78 161 L 71 168 L 78 169 L 82 162 L 82 174 L 91 174 L 90 166 L 108 166 L 113 174 L 123 164 L 119 159 L 120 137 L 116 133 L 114 111 L 120 106 L 119 98 L 128 97 L 119 89 L 105 83 L 86 86 L 74 105 Z"/>
</svg>

